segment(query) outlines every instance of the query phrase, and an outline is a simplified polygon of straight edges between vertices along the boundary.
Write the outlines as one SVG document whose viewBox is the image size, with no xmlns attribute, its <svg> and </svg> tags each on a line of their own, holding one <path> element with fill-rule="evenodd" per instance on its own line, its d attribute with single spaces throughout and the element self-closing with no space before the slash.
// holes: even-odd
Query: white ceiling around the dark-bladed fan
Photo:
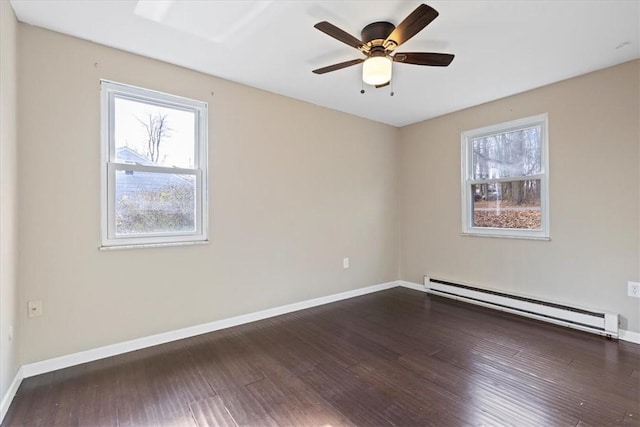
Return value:
<svg viewBox="0 0 640 427">
<path fill-rule="evenodd" d="M 365 87 L 361 54 L 313 28 L 360 38 L 418 1 L 11 0 L 18 19 L 107 46 L 404 126 L 640 57 L 638 1 L 429 1 L 440 12 L 397 51 L 456 55 L 447 68 L 394 64 L 393 90 Z"/>
</svg>

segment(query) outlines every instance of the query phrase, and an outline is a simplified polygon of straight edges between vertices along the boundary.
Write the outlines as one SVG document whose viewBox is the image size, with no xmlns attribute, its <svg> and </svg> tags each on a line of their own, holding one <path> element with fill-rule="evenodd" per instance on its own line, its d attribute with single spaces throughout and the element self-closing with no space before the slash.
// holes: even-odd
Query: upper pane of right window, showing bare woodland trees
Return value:
<svg viewBox="0 0 640 427">
<path fill-rule="evenodd" d="M 473 138 L 472 179 L 529 176 L 542 170 L 541 127 Z"/>
</svg>

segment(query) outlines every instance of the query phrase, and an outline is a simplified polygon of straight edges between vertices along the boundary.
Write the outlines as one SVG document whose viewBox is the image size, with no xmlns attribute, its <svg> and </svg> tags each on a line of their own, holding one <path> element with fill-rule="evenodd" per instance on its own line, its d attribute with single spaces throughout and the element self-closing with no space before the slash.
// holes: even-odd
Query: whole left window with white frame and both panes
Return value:
<svg viewBox="0 0 640 427">
<path fill-rule="evenodd" d="M 109 81 L 102 246 L 207 240 L 207 104 Z"/>
</svg>

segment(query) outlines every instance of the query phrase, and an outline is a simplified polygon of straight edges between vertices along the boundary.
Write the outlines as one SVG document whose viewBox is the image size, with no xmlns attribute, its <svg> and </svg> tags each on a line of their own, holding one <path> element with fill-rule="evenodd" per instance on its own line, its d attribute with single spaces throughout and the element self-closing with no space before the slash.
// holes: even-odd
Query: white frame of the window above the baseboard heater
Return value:
<svg viewBox="0 0 640 427">
<path fill-rule="evenodd" d="M 541 141 L 541 165 L 540 173 L 526 177 L 498 178 L 474 180 L 472 174 L 473 149 L 471 142 L 474 138 L 481 138 L 489 135 L 506 133 L 518 129 L 525 129 L 533 126 L 540 126 Z M 548 114 L 525 117 L 518 120 L 499 123 L 478 129 L 462 132 L 461 135 L 462 153 L 462 235 L 464 236 L 486 236 L 486 237 L 506 237 L 521 239 L 550 240 L 549 227 L 549 117 Z M 540 210 L 542 227 L 540 230 L 516 229 L 516 228 L 491 228 L 473 226 L 473 194 L 472 185 L 485 184 L 491 182 L 521 181 L 523 179 L 539 179 L 541 185 Z"/>
</svg>

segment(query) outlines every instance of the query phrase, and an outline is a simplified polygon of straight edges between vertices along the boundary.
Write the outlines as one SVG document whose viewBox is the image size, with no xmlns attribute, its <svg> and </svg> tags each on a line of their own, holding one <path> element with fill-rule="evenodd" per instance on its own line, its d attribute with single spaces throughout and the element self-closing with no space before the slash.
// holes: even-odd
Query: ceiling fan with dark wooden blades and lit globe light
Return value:
<svg viewBox="0 0 640 427">
<path fill-rule="evenodd" d="M 373 22 L 367 25 L 362 29 L 362 40 L 358 40 L 327 21 L 318 22 L 314 25 L 315 28 L 342 43 L 355 47 L 365 55 L 365 58 L 340 62 L 318 68 L 313 72 L 325 74 L 364 62 L 362 80 L 379 88 L 387 86 L 391 81 L 393 62 L 446 67 L 453 61 L 454 55 L 433 52 L 396 52 L 392 55 L 398 46 L 422 31 L 437 16 L 438 12 L 434 8 L 421 4 L 397 27 L 390 22 Z"/>
</svg>

